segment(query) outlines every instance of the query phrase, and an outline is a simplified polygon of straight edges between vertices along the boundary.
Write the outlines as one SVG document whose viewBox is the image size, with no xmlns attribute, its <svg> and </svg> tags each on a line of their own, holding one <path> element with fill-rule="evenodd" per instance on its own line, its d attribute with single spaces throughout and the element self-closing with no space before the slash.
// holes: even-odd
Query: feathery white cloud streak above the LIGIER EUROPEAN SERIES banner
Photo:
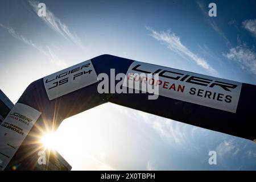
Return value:
<svg viewBox="0 0 256 182">
<path fill-rule="evenodd" d="M 176 36 L 174 32 L 168 31 L 161 31 L 157 32 L 155 30 L 152 30 L 151 28 L 146 27 L 147 30 L 151 32 L 150 36 L 155 38 L 161 43 L 164 43 L 167 45 L 171 51 L 174 51 L 178 53 L 180 56 L 188 57 L 189 59 L 192 59 L 196 62 L 197 65 L 200 67 L 203 67 L 204 69 L 207 69 L 209 72 L 217 73 L 208 63 L 205 59 L 202 57 L 197 56 L 195 53 L 190 51 L 187 47 L 185 47 L 181 41 L 180 37 Z"/>
</svg>

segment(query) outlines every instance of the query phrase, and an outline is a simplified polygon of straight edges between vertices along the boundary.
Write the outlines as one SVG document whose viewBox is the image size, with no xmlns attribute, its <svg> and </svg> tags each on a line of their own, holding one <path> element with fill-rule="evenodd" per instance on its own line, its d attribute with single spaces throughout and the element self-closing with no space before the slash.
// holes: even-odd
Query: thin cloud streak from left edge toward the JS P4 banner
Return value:
<svg viewBox="0 0 256 182">
<path fill-rule="evenodd" d="M 15 39 L 20 40 L 21 42 L 37 49 L 39 52 L 46 55 L 48 57 L 48 59 L 51 61 L 51 63 L 56 64 L 57 66 L 59 66 L 61 68 L 67 67 L 67 64 L 63 60 L 59 59 L 59 57 L 57 57 L 56 54 L 48 46 L 47 46 L 47 49 L 44 49 L 41 46 L 38 46 L 32 40 L 29 40 L 29 39 L 25 38 L 23 35 L 20 35 L 12 27 L 4 26 L 1 23 L 0 23 L 0 27 L 5 28 L 9 32 L 9 34 L 11 36 L 13 36 Z"/>
</svg>

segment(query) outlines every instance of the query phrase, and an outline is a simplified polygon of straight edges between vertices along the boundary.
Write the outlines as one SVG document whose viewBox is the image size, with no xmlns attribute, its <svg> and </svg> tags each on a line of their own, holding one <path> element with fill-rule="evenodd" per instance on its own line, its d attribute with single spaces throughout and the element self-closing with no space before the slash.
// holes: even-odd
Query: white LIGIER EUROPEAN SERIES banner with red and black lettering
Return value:
<svg viewBox="0 0 256 182">
<path fill-rule="evenodd" d="M 159 80 L 147 79 L 139 76 L 142 73 L 158 74 Z M 161 67 L 158 65 L 134 61 L 127 73 L 127 82 L 139 81 L 159 86 L 159 95 L 191 102 L 203 106 L 213 107 L 236 113 L 240 97 L 240 82 L 221 78 L 199 75 L 197 73 Z M 123 86 L 133 88 L 123 82 Z"/>
</svg>

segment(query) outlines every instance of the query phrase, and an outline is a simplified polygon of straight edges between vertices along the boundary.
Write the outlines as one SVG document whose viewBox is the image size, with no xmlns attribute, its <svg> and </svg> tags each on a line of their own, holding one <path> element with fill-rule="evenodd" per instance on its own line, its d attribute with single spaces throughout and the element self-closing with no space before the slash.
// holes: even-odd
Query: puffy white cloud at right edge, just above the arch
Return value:
<svg viewBox="0 0 256 182">
<path fill-rule="evenodd" d="M 246 44 L 240 44 L 237 47 L 229 49 L 228 53 L 223 53 L 230 60 L 237 61 L 243 69 L 249 70 L 256 74 L 256 53 Z"/>
</svg>

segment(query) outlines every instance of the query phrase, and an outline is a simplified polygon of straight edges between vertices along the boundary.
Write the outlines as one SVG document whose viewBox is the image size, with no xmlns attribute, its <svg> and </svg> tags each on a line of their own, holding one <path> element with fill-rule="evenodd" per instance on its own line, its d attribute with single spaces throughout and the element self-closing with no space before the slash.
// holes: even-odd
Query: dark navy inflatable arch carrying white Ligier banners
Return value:
<svg viewBox="0 0 256 182">
<path fill-rule="evenodd" d="M 40 68 L 39 68 L 40 69 Z M 111 77 L 123 73 L 129 80 L 148 81 L 136 74 L 152 73 L 159 80 L 158 98 L 150 93 L 99 93 L 100 73 Z M 109 82 L 113 88 L 118 81 Z M 105 85 L 106 86 L 106 85 Z M 0 169 L 13 160 L 24 160 L 36 152 L 35 135 L 92 107 L 112 102 L 146 113 L 219 131 L 250 140 L 256 139 L 256 86 L 197 73 L 142 63 L 112 55 L 94 57 L 63 71 L 32 82 L 0 126 Z M 13 160 L 11 160 L 13 159 Z M 30 163 L 30 161 L 26 161 Z"/>
</svg>

